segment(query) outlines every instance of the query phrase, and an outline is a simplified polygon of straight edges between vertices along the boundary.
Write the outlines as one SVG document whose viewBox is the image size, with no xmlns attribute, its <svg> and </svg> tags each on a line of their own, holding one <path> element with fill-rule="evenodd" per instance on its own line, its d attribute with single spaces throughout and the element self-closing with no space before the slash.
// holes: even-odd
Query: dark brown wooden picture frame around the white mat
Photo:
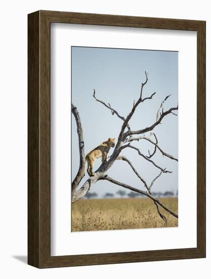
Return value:
<svg viewBox="0 0 211 279">
<path fill-rule="evenodd" d="M 197 31 L 197 247 L 89 255 L 50 252 L 50 28 L 75 23 Z M 38 268 L 205 257 L 205 21 L 56 11 L 28 15 L 28 264 Z"/>
</svg>

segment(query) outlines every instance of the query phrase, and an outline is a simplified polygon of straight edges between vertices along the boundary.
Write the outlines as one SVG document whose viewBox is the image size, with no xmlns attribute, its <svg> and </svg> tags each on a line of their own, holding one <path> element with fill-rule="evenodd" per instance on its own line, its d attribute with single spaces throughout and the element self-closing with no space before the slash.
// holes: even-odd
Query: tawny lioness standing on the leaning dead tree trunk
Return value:
<svg viewBox="0 0 211 279">
<path fill-rule="evenodd" d="M 93 166 L 97 158 L 102 157 L 102 164 L 107 162 L 107 154 L 111 147 L 115 146 L 115 138 L 110 138 L 108 141 L 103 142 L 101 145 L 90 151 L 86 156 L 86 161 L 88 163 L 87 172 L 90 177 L 94 176 Z"/>
</svg>

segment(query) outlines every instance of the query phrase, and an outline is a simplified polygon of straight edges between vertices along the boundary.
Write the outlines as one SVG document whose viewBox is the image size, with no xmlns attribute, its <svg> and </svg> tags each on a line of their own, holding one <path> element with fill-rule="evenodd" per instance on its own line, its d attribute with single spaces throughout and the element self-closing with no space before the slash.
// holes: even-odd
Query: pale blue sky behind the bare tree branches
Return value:
<svg viewBox="0 0 211 279">
<path fill-rule="evenodd" d="M 145 81 L 145 71 L 148 72 L 148 83 L 143 90 L 143 97 L 156 92 L 152 100 L 141 103 L 130 121 L 132 130 L 144 128 L 153 124 L 160 103 L 166 95 L 164 110 L 176 107 L 178 104 L 178 52 L 149 51 L 128 49 L 106 49 L 72 47 L 72 102 L 77 107 L 83 126 L 86 154 L 108 137 L 118 137 L 122 121 L 93 98 L 93 89 L 97 98 L 116 109 L 126 117 L 132 109 L 134 100 L 140 95 L 141 83 Z M 173 114 L 165 117 L 162 124 L 153 132 L 158 138 L 158 145 L 166 153 L 178 158 L 178 117 Z M 146 133 L 149 135 L 149 133 Z M 134 142 L 142 153 L 148 155 L 153 146 L 142 140 Z M 113 149 L 110 150 L 111 155 Z M 128 157 L 140 175 L 150 183 L 158 175 L 159 169 L 141 158 L 135 150 L 124 150 L 121 155 Z M 157 151 L 153 160 L 161 167 L 173 170 L 172 174 L 163 174 L 153 185 L 153 191 L 177 191 L 178 162 L 162 157 Z M 96 161 L 94 170 L 101 164 Z M 72 117 L 72 179 L 79 165 L 78 138 L 75 119 Z M 87 168 L 87 165 L 86 165 Z M 123 183 L 139 189 L 143 184 L 136 177 L 130 166 L 124 161 L 116 161 L 109 169 L 108 175 Z M 83 179 L 85 181 L 86 177 Z M 81 184 L 82 185 L 82 184 Z M 99 181 L 90 190 L 103 195 L 106 192 L 116 193 L 121 187 L 107 181 Z M 130 192 L 130 191 L 126 191 Z"/>
</svg>

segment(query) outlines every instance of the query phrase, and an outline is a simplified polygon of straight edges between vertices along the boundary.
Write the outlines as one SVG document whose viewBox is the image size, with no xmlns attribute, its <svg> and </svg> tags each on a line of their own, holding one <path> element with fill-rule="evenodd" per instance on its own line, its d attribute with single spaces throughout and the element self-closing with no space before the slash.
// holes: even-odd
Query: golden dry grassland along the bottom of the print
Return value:
<svg viewBox="0 0 211 279">
<path fill-rule="evenodd" d="M 178 198 L 160 198 L 178 213 Z M 160 207 L 167 227 L 177 227 L 178 219 Z M 166 227 L 149 198 L 81 199 L 72 204 L 71 231 L 119 230 Z"/>
</svg>

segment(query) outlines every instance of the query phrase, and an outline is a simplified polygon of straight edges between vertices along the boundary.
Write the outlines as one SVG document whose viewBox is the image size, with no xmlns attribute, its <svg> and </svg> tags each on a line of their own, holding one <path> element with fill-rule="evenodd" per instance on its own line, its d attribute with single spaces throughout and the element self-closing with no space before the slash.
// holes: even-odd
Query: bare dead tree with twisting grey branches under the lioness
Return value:
<svg viewBox="0 0 211 279">
<path fill-rule="evenodd" d="M 123 124 L 121 126 L 119 135 L 118 135 L 118 140 L 115 146 L 115 149 L 112 153 L 112 155 L 110 156 L 109 160 L 106 162 L 106 164 L 102 164 L 96 171 L 95 171 L 95 175 L 93 177 L 90 177 L 83 185 L 82 187 L 77 190 L 82 178 L 85 176 L 85 148 L 84 148 L 84 142 L 83 142 L 83 131 L 82 131 L 82 124 L 81 124 L 81 120 L 80 120 L 80 116 L 79 113 L 77 111 L 77 108 L 75 106 L 71 106 L 72 109 L 72 114 L 75 117 L 75 121 L 76 121 L 76 125 L 77 125 L 77 134 L 78 134 L 78 144 L 79 144 L 79 154 L 80 154 L 80 164 L 79 164 L 79 169 L 77 172 L 77 175 L 75 177 L 75 179 L 72 182 L 72 188 L 71 188 L 71 192 L 72 192 L 72 202 L 75 202 L 79 199 L 81 199 L 82 197 L 84 197 L 86 195 L 86 193 L 90 190 L 91 186 L 93 186 L 96 182 L 98 182 L 99 180 L 107 180 L 115 185 L 119 185 L 123 188 L 126 189 L 130 189 L 131 191 L 137 192 L 139 194 L 145 195 L 147 197 L 149 197 L 150 199 L 153 200 L 156 208 L 157 208 L 157 212 L 159 214 L 159 216 L 162 218 L 162 220 L 165 221 L 165 223 L 167 222 L 166 217 L 160 212 L 159 206 L 161 206 L 162 208 L 164 208 L 165 211 L 167 211 L 168 213 L 170 213 L 171 215 L 173 215 L 174 217 L 178 218 L 178 215 L 176 213 L 174 213 L 170 208 L 166 207 L 158 198 L 154 197 L 152 192 L 151 192 L 151 188 L 154 184 L 154 182 L 163 174 L 163 173 L 172 173 L 172 171 L 170 170 L 166 170 L 166 168 L 162 168 L 159 165 L 157 165 L 153 160 L 152 157 L 154 156 L 154 154 L 156 153 L 156 151 L 158 150 L 163 156 L 166 156 L 172 160 L 176 160 L 178 161 L 177 158 L 175 158 L 174 156 L 167 154 L 166 152 L 164 152 L 158 145 L 158 139 L 155 135 L 155 133 L 153 133 L 153 129 L 161 123 L 162 119 L 164 117 L 166 117 L 169 114 L 174 114 L 177 116 L 177 114 L 175 114 L 175 111 L 178 110 L 178 105 L 175 108 L 171 108 L 167 111 L 164 111 L 164 103 L 166 101 L 166 99 L 168 97 L 170 97 L 171 95 L 168 95 L 165 97 L 165 99 L 161 102 L 160 107 L 157 111 L 157 115 L 156 115 L 156 121 L 151 124 L 149 127 L 145 127 L 142 128 L 140 130 L 131 130 L 131 127 L 129 125 L 129 122 L 135 112 L 135 110 L 137 109 L 137 107 L 147 101 L 147 100 L 151 100 L 153 98 L 153 96 L 156 94 L 156 92 L 154 92 L 153 94 L 151 94 L 151 96 L 149 97 L 145 97 L 143 98 L 143 88 L 146 85 L 146 83 L 148 82 L 148 74 L 145 72 L 145 76 L 146 76 L 146 81 L 144 83 L 142 83 L 141 85 L 141 91 L 140 91 L 140 96 L 139 99 L 133 104 L 133 108 L 130 111 L 130 113 L 128 114 L 128 116 L 126 118 L 124 118 L 123 116 L 121 116 L 114 108 L 111 107 L 110 103 L 105 103 L 102 100 L 99 100 L 96 97 L 96 92 L 94 89 L 94 93 L 93 93 L 93 97 L 95 98 L 96 101 L 102 103 L 107 109 L 109 109 L 112 113 L 112 115 L 116 115 L 118 118 L 120 118 L 123 121 Z M 127 130 L 125 131 L 125 129 L 127 128 Z M 147 137 L 144 134 L 150 132 L 150 136 Z M 140 135 L 140 136 L 138 136 Z M 153 138 L 153 140 L 152 140 Z M 141 140 L 145 140 L 148 141 L 149 143 L 151 143 L 154 146 L 154 151 L 152 154 L 148 155 L 144 155 L 142 154 L 142 152 L 135 146 L 132 145 L 132 143 L 134 141 L 141 141 Z M 146 181 L 142 178 L 142 176 L 140 176 L 140 174 L 138 173 L 138 171 L 135 169 L 135 167 L 133 166 L 132 162 L 129 161 L 128 158 L 126 158 L 125 156 L 120 156 L 120 153 L 126 149 L 126 148 L 130 148 L 130 149 L 134 149 L 137 151 L 137 153 L 143 157 L 145 160 L 147 160 L 148 162 L 150 162 L 152 165 L 154 165 L 154 167 L 158 168 L 160 170 L 159 174 L 152 180 L 151 184 L 148 185 L 146 183 Z M 138 188 L 134 188 L 128 184 L 124 184 L 122 182 L 116 181 L 114 179 L 112 179 L 111 177 L 108 177 L 107 175 L 107 171 L 108 169 L 113 165 L 113 163 L 116 160 L 122 160 L 125 161 L 126 163 L 128 163 L 128 165 L 132 168 L 132 170 L 134 171 L 135 175 L 140 179 L 141 183 L 144 185 L 144 187 L 146 188 L 146 191 L 140 190 Z"/>
</svg>

